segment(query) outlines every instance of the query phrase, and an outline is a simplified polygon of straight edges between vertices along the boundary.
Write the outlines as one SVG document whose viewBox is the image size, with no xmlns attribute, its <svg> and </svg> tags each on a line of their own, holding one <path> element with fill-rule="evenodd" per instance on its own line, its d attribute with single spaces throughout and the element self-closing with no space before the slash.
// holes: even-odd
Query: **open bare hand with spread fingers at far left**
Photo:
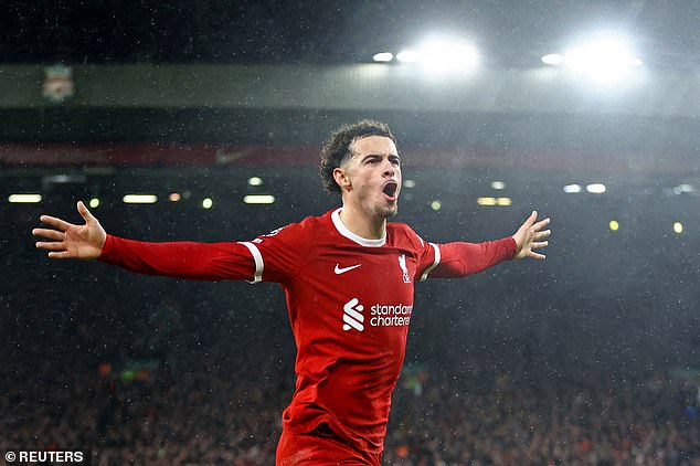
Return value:
<svg viewBox="0 0 700 466">
<path fill-rule="evenodd" d="M 74 225 L 55 216 L 42 215 L 42 223 L 53 229 L 34 229 L 32 234 L 51 241 L 39 241 L 36 247 L 49 251 L 51 258 L 99 257 L 107 240 L 107 233 L 97 219 L 87 210 L 83 201 L 78 201 L 77 211 L 85 220 L 84 225 Z"/>
</svg>

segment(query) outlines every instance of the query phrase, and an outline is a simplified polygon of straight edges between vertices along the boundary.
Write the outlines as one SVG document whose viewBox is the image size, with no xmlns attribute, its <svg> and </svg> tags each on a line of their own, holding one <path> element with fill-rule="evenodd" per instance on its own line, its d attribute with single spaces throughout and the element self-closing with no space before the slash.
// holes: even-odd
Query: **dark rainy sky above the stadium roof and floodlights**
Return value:
<svg viewBox="0 0 700 466">
<path fill-rule="evenodd" d="M 491 66 L 532 66 L 581 28 L 629 31 L 653 66 L 696 68 L 698 2 L 36 1 L 4 3 L 0 56 L 17 62 L 358 63 L 438 31 Z"/>
</svg>

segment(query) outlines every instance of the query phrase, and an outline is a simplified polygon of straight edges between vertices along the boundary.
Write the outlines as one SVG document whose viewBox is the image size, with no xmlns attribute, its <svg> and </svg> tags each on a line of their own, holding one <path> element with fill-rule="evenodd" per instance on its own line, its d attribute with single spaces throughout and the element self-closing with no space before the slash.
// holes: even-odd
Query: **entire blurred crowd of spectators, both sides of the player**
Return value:
<svg viewBox="0 0 700 466">
<path fill-rule="evenodd" d="M 131 380 L 81 357 L 63 367 L 3 359 L 0 447 L 92 448 L 100 465 L 272 465 L 293 390 L 289 368 L 263 353 L 254 367 L 190 357 Z M 478 357 L 468 366 L 402 377 L 384 464 L 700 464 L 697 380 L 552 375 L 518 362 L 497 373 Z"/>
</svg>

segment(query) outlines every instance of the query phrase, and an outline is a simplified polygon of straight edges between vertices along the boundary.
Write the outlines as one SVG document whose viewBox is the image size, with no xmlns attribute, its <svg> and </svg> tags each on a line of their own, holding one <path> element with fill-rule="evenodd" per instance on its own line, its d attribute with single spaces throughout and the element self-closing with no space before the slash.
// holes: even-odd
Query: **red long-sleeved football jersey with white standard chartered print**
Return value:
<svg viewBox="0 0 700 466">
<path fill-rule="evenodd" d="M 511 237 L 437 245 L 401 223 L 389 223 L 382 240 L 365 240 L 339 213 L 242 243 L 144 243 L 109 235 L 100 260 L 140 273 L 282 284 L 297 346 L 296 391 L 284 427 L 307 433 L 327 424 L 357 448 L 380 453 L 414 283 L 479 272 L 511 258 L 516 245 Z"/>
</svg>

